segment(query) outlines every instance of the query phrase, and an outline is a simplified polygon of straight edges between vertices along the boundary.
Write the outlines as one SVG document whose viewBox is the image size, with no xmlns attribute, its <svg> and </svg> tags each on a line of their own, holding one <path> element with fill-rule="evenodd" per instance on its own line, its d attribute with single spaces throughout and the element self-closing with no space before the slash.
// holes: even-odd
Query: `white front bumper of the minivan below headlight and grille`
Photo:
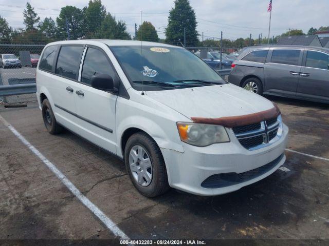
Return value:
<svg viewBox="0 0 329 246">
<path fill-rule="evenodd" d="M 287 145 L 287 134 L 288 128 L 283 124 L 283 133 L 278 141 L 252 151 L 242 147 L 232 131 L 229 131 L 231 141 L 222 144 L 196 147 L 182 143 L 184 153 L 161 148 L 166 162 L 169 185 L 178 190 L 203 196 L 221 195 L 239 190 L 267 177 L 283 165 L 286 159 L 284 150 Z M 270 166 L 267 165 L 269 163 Z M 264 165 L 269 168 L 266 170 L 260 168 Z M 259 168 L 265 171 L 241 182 L 226 183 L 220 188 L 204 186 L 204 181 L 216 174 L 242 174 L 250 170 L 260 170 Z"/>
</svg>

